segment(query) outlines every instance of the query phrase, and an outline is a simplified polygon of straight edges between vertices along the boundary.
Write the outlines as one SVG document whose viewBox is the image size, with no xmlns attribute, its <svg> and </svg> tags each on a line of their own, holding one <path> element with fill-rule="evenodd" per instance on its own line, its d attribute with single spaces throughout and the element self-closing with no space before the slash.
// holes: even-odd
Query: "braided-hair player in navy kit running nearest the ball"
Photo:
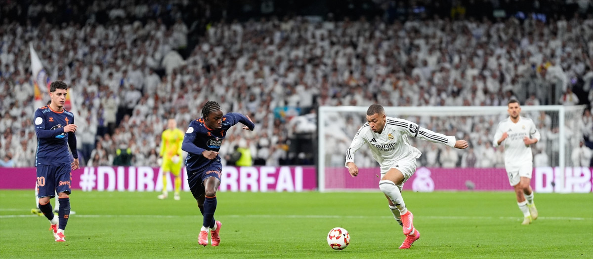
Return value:
<svg viewBox="0 0 593 259">
<path fill-rule="evenodd" d="M 202 108 L 202 118 L 190 122 L 181 144 L 181 149 L 187 152 L 187 183 L 204 216 L 198 237 L 198 244 L 203 246 L 208 245 L 208 232 L 212 235 L 212 246 L 218 246 L 221 241 L 222 224 L 214 219 L 216 190 L 221 184 L 222 172 L 218 150 L 228 129 L 238 122 L 246 125 L 243 129 L 253 131 L 255 128 L 249 116 L 234 112 L 222 115 L 221 106 L 208 101 Z"/>
</svg>

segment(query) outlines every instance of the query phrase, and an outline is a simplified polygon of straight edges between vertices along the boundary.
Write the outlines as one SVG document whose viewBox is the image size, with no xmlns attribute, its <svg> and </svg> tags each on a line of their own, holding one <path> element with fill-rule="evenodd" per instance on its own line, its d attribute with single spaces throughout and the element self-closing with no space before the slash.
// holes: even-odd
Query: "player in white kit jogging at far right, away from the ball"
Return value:
<svg viewBox="0 0 593 259">
<path fill-rule="evenodd" d="M 529 225 L 537 219 L 533 190 L 529 185 L 533 171 L 531 144 L 537 143 L 540 132 L 531 119 L 519 115 L 521 106 L 517 100 L 511 99 L 507 105 L 510 116 L 498 124 L 492 144 L 494 147 L 504 144 L 506 174 L 515 188 L 517 205 L 524 216 L 521 224 Z"/>
</svg>

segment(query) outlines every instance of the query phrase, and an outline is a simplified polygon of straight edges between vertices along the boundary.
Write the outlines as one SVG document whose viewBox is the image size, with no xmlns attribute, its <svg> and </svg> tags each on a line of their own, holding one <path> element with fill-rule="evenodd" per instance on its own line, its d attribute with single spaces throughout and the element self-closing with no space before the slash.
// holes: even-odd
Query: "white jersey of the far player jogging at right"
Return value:
<svg viewBox="0 0 593 259">
<path fill-rule="evenodd" d="M 505 147 L 505 167 L 508 169 L 525 163 L 533 163 L 531 146 L 525 145 L 523 142 L 524 137 L 540 140 L 540 132 L 535 128 L 533 121 L 522 116 L 519 116 L 517 123 L 512 122 L 511 117 L 501 121 L 494 134 L 492 142 L 494 147 L 498 147 L 498 140 L 504 132 L 508 134 L 508 137 L 500 145 Z"/>
</svg>

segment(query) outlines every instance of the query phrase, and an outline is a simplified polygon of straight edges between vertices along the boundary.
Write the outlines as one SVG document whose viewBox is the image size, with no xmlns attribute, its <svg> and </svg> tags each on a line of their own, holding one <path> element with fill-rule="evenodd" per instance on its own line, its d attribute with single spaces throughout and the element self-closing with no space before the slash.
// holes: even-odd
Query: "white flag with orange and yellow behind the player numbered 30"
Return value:
<svg viewBox="0 0 593 259">
<path fill-rule="evenodd" d="M 31 51 L 31 72 L 33 72 L 33 86 L 34 86 L 34 105 L 36 108 L 42 107 L 49 101 L 49 85 L 52 83 L 47 72 L 43 69 L 43 64 L 37 56 L 37 52 L 33 48 L 33 43 L 29 43 L 29 50 Z M 66 95 L 66 103 L 64 108 L 71 109 L 70 92 Z"/>
</svg>

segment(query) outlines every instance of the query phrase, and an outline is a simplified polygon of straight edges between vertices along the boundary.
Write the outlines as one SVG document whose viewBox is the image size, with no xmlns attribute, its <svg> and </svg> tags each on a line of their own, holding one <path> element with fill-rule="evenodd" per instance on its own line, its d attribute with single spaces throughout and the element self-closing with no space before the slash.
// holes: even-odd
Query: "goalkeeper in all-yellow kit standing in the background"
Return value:
<svg viewBox="0 0 593 259">
<path fill-rule="evenodd" d="M 184 137 L 183 131 L 177 128 L 177 121 L 169 119 L 167 129 L 161 135 L 161 153 L 162 158 L 162 195 L 159 199 L 167 199 L 167 176 L 172 173 L 175 176 L 175 200 L 179 200 L 179 190 L 181 189 L 181 143 Z"/>
</svg>

